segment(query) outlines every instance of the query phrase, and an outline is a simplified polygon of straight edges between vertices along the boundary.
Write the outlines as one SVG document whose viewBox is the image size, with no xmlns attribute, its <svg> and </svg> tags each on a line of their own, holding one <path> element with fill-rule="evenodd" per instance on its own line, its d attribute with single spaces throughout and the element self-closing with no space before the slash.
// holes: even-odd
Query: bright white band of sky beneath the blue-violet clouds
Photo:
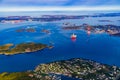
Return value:
<svg viewBox="0 0 120 80">
<path fill-rule="evenodd" d="M 0 12 L 19 11 L 120 11 L 120 6 L 26 6 L 26 7 L 0 7 Z"/>
</svg>

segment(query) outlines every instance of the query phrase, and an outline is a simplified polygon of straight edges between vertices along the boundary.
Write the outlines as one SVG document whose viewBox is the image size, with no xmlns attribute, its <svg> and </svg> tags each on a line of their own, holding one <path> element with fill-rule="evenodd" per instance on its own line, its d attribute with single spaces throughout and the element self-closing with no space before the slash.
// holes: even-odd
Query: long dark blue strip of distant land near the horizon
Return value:
<svg viewBox="0 0 120 80">
<path fill-rule="evenodd" d="M 57 21 L 64 19 L 83 19 L 85 17 L 117 17 L 120 13 L 98 13 L 93 15 L 42 15 L 39 17 L 31 16 L 6 16 L 0 17 L 0 22 L 11 20 L 25 20 L 25 21 Z"/>
</svg>

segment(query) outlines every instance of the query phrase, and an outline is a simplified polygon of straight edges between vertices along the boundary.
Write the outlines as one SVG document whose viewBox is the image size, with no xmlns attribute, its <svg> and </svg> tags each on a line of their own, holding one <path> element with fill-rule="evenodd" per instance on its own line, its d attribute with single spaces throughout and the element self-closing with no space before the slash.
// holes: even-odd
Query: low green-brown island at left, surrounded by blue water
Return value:
<svg viewBox="0 0 120 80">
<path fill-rule="evenodd" d="M 4 55 L 14 55 L 21 53 L 29 53 L 42 50 L 44 48 L 51 49 L 52 46 L 47 46 L 41 43 L 21 43 L 21 44 L 5 44 L 0 46 L 0 54 Z"/>
</svg>

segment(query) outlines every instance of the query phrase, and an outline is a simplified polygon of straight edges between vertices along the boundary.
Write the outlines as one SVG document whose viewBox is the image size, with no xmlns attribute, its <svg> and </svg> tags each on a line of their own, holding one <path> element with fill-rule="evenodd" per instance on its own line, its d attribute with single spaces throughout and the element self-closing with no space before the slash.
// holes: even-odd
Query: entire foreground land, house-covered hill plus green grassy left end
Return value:
<svg viewBox="0 0 120 80">
<path fill-rule="evenodd" d="M 4 72 L 0 74 L 0 79 L 65 80 L 62 76 L 80 80 L 119 80 L 120 67 L 74 58 L 40 64 L 32 71 L 14 73 Z"/>
</svg>

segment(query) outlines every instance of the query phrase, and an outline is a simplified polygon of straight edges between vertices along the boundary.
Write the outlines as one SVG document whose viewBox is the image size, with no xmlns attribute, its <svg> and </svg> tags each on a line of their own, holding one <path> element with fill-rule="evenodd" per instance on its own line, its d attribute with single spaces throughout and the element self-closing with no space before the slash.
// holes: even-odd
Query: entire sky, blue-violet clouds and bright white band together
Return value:
<svg viewBox="0 0 120 80">
<path fill-rule="evenodd" d="M 120 10 L 120 0 L 0 0 L 0 11 Z"/>
</svg>

